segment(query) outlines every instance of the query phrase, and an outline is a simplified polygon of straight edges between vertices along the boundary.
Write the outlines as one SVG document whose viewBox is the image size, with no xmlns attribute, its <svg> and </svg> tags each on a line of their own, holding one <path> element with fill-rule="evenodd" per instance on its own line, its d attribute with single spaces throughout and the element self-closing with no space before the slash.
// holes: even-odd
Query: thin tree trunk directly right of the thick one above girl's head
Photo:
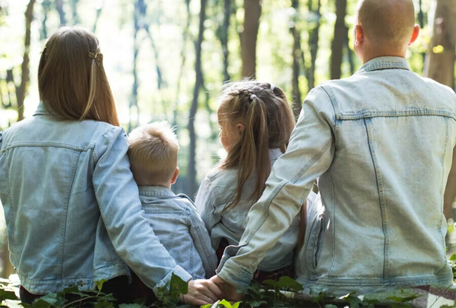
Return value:
<svg viewBox="0 0 456 308">
<path fill-rule="evenodd" d="M 300 65 L 299 62 L 302 58 L 301 50 L 301 32 L 296 29 L 296 17 L 299 16 L 299 0 L 292 0 L 291 7 L 294 9 L 292 26 L 290 27 L 291 35 L 293 36 L 293 67 L 292 67 L 292 86 L 293 86 L 293 114 L 295 119 L 298 118 L 299 112 L 301 111 L 301 92 L 299 90 L 299 75 L 300 75 Z"/>
</svg>

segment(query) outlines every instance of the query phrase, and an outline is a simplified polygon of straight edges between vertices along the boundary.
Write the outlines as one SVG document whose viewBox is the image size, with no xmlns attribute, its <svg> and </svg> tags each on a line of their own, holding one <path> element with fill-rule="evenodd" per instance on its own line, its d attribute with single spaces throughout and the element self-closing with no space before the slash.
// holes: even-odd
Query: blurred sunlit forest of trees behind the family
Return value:
<svg viewBox="0 0 456 308">
<path fill-rule="evenodd" d="M 456 0 L 413 0 L 420 37 L 412 71 L 454 89 Z M 121 125 L 167 120 L 180 142 L 172 189 L 194 197 L 226 153 L 218 140 L 217 95 L 226 81 L 255 77 L 284 89 L 297 116 L 310 89 L 361 66 L 353 51 L 357 0 L 0 0 L 0 130 L 33 114 L 37 66 L 60 25 L 100 41 Z M 456 155 L 444 198 L 454 219 Z M 0 174 L 1 176 L 1 174 Z M 45 192 L 44 192 L 45 193 Z M 8 277 L 0 204 L 0 277 Z M 452 221 L 450 220 L 450 223 Z"/>
</svg>

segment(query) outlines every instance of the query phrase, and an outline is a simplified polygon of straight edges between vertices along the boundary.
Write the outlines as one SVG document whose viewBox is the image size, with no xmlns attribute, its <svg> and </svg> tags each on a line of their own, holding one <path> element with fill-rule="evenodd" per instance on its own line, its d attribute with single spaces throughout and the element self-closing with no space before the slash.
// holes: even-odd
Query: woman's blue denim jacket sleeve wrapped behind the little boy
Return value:
<svg viewBox="0 0 456 308">
<path fill-rule="evenodd" d="M 184 281 L 192 276 L 176 264 L 143 215 L 138 187 L 130 170 L 126 137 L 122 128 L 112 127 L 97 140 L 93 186 L 116 252 L 158 294 L 173 272 Z"/>
</svg>

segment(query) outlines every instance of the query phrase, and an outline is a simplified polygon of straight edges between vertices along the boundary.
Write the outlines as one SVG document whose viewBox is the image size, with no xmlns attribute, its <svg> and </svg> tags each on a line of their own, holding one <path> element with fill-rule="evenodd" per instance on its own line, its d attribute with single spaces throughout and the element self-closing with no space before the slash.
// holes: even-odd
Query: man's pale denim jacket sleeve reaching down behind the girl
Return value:
<svg viewBox="0 0 456 308">
<path fill-rule="evenodd" d="M 299 213 L 313 181 L 330 166 L 334 155 L 334 110 L 326 91 L 314 88 L 306 97 L 287 151 L 277 159 L 266 188 L 247 215 L 239 246 L 229 246 L 218 276 L 246 289 L 264 254 Z"/>
</svg>

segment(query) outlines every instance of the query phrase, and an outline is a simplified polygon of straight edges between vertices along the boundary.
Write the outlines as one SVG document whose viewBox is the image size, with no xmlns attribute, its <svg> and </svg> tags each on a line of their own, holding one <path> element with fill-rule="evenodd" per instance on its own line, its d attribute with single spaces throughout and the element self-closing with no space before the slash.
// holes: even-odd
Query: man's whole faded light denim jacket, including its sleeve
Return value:
<svg viewBox="0 0 456 308">
<path fill-rule="evenodd" d="M 335 294 L 451 284 L 443 193 L 455 141 L 453 90 L 410 72 L 404 58 L 374 58 L 321 84 L 218 275 L 245 288 L 320 177 L 300 283 Z"/>
</svg>

